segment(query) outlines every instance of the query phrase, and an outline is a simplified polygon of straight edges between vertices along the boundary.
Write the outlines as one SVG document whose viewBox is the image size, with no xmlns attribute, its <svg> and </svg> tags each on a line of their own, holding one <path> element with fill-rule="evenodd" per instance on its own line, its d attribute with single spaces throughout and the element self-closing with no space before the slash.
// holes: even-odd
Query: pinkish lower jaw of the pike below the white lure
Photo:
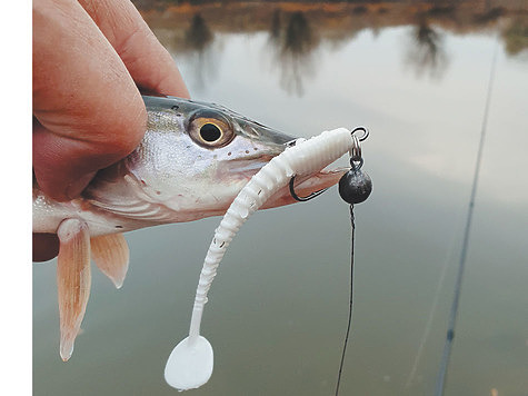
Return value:
<svg viewBox="0 0 528 396">
<path fill-rule="evenodd" d="M 312 192 L 323 190 L 336 185 L 339 179 L 345 175 L 349 168 L 338 169 L 323 169 L 316 174 L 296 177 L 293 182 L 293 190 L 298 197 L 307 197 Z M 277 208 L 285 205 L 298 202 L 296 198 L 291 196 L 289 186 L 285 186 L 273 194 L 263 205 L 262 209 Z"/>
</svg>

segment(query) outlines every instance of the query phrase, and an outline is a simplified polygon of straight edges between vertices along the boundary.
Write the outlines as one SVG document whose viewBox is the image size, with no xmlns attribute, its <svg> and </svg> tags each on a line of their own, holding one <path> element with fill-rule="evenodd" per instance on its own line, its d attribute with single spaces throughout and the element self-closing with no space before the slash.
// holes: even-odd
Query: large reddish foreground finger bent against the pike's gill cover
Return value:
<svg viewBox="0 0 528 396">
<path fill-rule="evenodd" d="M 50 197 L 78 196 L 145 133 L 147 112 L 130 73 L 76 1 L 33 2 L 32 82 L 33 169 Z"/>
</svg>

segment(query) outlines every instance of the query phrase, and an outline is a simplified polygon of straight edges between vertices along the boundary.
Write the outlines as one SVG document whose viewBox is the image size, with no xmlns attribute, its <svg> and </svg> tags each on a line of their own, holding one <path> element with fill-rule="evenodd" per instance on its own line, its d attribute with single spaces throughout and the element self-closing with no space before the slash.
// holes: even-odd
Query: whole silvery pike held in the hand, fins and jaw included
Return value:
<svg viewBox="0 0 528 396">
<path fill-rule="evenodd" d="M 67 362 L 84 317 L 91 260 L 120 288 L 129 266 L 123 232 L 223 215 L 243 186 L 297 138 L 220 105 L 143 96 L 147 131 L 126 158 L 104 168 L 70 201 L 48 197 L 33 178 L 33 232 L 57 234 L 60 356 Z M 309 195 L 346 169 L 296 179 Z M 262 208 L 296 202 L 288 188 Z"/>
</svg>

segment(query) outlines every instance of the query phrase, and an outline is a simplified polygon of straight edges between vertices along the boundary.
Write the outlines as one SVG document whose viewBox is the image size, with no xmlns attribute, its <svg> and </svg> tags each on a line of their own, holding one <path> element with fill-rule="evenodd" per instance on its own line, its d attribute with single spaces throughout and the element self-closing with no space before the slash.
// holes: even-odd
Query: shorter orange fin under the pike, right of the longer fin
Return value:
<svg viewBox="0 0 528 396">
<path fill-rule="evenodd" d="M 127 276 L 129 248 L 122 234 L 103 235 L 90 240 L 91 257 L 99 269 L 121 288 Z"/>
</svg>

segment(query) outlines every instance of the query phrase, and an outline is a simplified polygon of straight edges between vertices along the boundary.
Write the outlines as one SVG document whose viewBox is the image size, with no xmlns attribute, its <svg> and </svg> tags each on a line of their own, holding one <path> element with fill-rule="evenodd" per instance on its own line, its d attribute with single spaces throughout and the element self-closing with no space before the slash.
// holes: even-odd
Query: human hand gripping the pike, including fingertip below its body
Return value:
<svg viewBox="0 0 528 396">
<path fill-rule="evenodd" d="M 33 0 L 33 174 L 56 200 L 78 197 L 146 131 L 139 89 L 189 98 L 178 68 L 128 0 Z M 33 234 L 33 260 L 57 256 Z"/>
</svg>

